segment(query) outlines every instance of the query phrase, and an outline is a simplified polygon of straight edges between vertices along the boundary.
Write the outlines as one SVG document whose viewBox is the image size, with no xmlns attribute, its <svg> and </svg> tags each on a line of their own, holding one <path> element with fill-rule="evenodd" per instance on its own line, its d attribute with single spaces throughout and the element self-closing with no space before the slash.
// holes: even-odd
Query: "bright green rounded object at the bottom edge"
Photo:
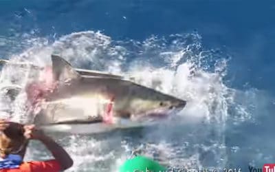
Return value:
<svg viewBox="0 0 275 172">
<path fill-rule="evenodd" d="M 120 172 L 165 172 L 166 168 L 159 163 L 144 156 L 135 156 L 135 158 L 126 160 L 120 166 Z"/>
</svg>

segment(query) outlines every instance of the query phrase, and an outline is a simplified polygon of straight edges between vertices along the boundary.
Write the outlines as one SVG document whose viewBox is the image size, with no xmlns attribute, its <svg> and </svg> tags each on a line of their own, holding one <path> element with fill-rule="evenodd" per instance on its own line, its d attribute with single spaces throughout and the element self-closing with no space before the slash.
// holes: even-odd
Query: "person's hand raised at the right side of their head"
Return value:
<svg viewBox="0 0 275 172">
<path fill-rule="evenodd" d="M 24 136 L 27 139 L 41 140 L 45 137 L 43 131 L 41 129 L 37 129 L 35 125 L 25 125 Z"/>
</svg>

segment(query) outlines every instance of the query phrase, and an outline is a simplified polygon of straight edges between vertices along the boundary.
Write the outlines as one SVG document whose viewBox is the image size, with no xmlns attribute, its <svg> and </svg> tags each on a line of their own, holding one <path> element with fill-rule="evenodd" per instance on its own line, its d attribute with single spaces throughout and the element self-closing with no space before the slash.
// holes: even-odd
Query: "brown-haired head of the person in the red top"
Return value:
<svg viewBox="0 0 275 172">
<path fill-rule="evenodd" d="M 9 154 L 18 154 L 25 144 L 23 125 L 16 122 L 6 122 L 0 132 L 0 157 Z"/>
</svg>

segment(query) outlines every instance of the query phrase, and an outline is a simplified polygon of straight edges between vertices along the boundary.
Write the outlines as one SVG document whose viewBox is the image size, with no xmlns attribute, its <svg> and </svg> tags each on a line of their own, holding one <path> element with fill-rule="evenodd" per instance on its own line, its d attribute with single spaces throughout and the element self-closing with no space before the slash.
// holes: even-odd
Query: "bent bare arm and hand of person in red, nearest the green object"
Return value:
<svg viewBox="0 0 275 172">
<path fill-rule="evenodd" d="M 34 125 L 27 125 L 25 128 L 25 137 L 28 139 L 40 140 L 45 147 L 51 151 L 54 158 L 61 164 L 61 170 L 69 169 L 74 162 L 69 154 L 59 144 L 54 142 L 52 138 L 46 136 L 43 131 L 36 129 Z"/>
</svg>

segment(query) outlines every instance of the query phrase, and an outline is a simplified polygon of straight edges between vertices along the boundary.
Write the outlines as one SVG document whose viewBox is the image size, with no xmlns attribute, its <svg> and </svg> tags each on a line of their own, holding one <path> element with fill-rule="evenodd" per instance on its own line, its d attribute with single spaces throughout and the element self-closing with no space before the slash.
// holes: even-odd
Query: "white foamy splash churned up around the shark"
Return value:
<svg viewBox="0 0 275 172">
<path fill-rule="evenodd" d="M 187 37 L 193 42 L 188 43 Z M 23 59 L 44 66 L 50 63 L 51 54 L 61 54 L 74 67 L 122 74 L 137 83 L 188 101 L 186 108 L 178 114 L 179 125 L 170 122 L 157 129 L 146 129 L 140 132 L 142 138 L 137 139 L 135 135 L 127 138 L 121 133 L 115 135 L 116 138 L 70 136 L 59 140 L 75 162 L 68 171 L 115 171 L 126 158 L 127 149 L 134 149 L 144 142 L 153 142 L 153 152 L 158 150 L 166 154 L 169 166 L 223 166 L 226 163 L 223 131 L 228 104 L 234 102 L 230 94 L 234 90 L 229 92 L 222 82 L 226 60 L 221 56 L 221 59 L 208 60 L 212 54 L 201 50 L 201 38 L 197 34 L 172 35 L 169 39 L 172 40 L 170 43 L 153 36 L 143 43 L 130 41 L 129 45 L 112 41 L 100 32 L 77 32 L 63 36 L 53 44 L 47 39 L 32 39 L 36 45 L 12 56 L 17 61 Z M 138 47 L 137 52 L 129 50 L 131 43 Z M 12 84 L 25 87 L 32 78 L 29 74 L 32 74 L 30 70 L 5 67 L 1 72 L 0 89 Z M 11 109 L 12 120 L 28 120 L 24 111 L 24 91 L 14 103 L 3 100 L 1 108 Z M 124 140 L 124 144 L 118 140 Z M 151 151 L 150 148 L 145 150 Z M 32 147 L 27 158 L 37 158 L 37 153 Z"/>
</svg>

